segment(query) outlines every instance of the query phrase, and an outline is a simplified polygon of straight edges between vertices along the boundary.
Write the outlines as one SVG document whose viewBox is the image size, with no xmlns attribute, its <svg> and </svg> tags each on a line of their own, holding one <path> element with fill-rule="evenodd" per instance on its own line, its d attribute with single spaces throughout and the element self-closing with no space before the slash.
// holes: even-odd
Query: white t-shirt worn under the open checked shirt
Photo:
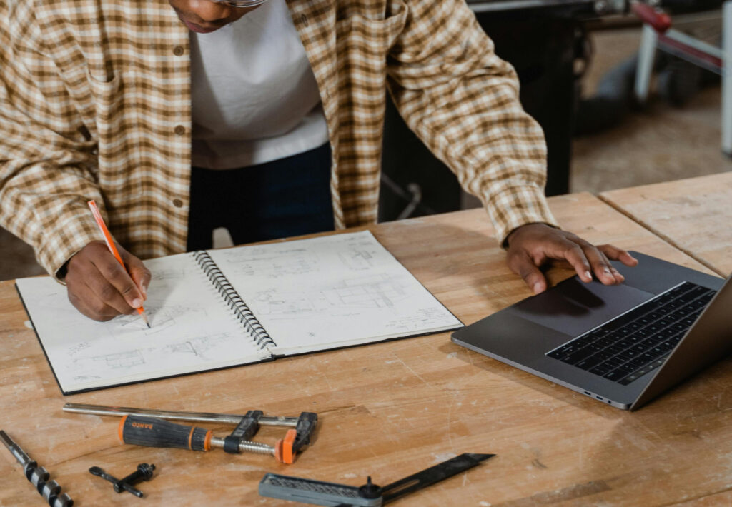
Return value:
<svg viewBox="0 0 732 507">
<path fill-rule="evenodd" d="M 241 168 L 328 141 L 315 75 L 285 0 L 190 32 L 193 165 Z"/>
</svg>

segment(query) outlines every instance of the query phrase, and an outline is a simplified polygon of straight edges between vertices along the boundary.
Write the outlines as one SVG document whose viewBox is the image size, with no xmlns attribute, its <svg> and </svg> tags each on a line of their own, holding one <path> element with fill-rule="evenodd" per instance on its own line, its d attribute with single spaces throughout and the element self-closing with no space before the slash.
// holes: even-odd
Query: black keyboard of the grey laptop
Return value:
<svg viewBox="0 0 732 507">
<path fill-rule="evenodd" d="M 684 282 L 546 355 L 627 386 L 663 364 L 715 293 Z"/>
</svg>

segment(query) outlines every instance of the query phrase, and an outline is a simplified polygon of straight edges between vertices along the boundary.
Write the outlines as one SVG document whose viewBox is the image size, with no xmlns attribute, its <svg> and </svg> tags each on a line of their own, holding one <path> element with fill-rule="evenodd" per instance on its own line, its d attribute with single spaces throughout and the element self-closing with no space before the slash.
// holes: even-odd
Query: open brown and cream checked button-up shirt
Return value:
<svg viewBox="0 0 732 507">
<path fill-rule="evenodd" d="M 321 90 L 338 228 L 376 222 L 385 89 L 503 239 L 554 224 L 545 143 L 464 0 L 286 0 Z M 272 34 L 276 37 L 276 34 Z M 0 0 L 0 223 L 51 273 L 101 239 L 182 252 L 188 33 L 166 0 Z"/>
</svg>

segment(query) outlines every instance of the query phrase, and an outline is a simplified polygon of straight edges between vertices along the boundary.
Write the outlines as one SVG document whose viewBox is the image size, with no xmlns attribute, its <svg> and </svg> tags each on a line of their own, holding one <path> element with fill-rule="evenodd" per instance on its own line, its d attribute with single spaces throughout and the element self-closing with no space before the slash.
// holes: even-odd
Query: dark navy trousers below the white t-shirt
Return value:
<svg viewBox="0 0 732 507">
<path fill-rule="evenodd" d="M 247 168 L 192 168 L 188 251 L 211 248 L 220 227 L 234 244 L 333 230 L 330 145 Z"/>
</svg>

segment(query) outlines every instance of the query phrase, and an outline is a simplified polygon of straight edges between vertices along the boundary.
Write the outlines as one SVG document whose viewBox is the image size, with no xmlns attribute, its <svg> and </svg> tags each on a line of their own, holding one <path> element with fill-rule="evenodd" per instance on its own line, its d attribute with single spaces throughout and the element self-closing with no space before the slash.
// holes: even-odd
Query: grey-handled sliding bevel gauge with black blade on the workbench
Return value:
<svg viewBox="0 0 732 507">
<path fill-rule="evenodd" d="M 379 487 L 367 479 L 362 487 L 268 473 L 259 483 L 265 497 L 329 507 L 381 507 L 409 493 L 469 470 L 495 454 L 464 453 L 421 472 Z"/>
</svg>

